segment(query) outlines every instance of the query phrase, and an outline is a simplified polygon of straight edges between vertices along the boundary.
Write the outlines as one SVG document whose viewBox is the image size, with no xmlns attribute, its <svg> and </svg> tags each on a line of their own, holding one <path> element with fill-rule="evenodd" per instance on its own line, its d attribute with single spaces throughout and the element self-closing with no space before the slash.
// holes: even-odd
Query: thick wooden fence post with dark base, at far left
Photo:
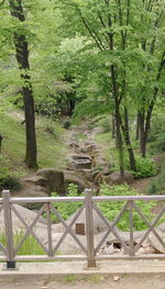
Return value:
<svg viewBox="0 0 165 289">
<path fill-rule="evenodd" d="M 2 198 L 3 198 L 4 229 L 7 236 L 7 269 L 15 269 L 12 215 L 10 208 L 10 191 L 3 190 Z"/>
</svg>

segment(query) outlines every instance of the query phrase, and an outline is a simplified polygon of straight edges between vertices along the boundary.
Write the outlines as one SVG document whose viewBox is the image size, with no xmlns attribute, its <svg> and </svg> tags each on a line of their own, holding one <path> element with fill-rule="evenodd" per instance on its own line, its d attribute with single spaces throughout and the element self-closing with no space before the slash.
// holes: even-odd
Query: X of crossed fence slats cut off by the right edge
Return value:
<svg viewBox="0 0 165 289">
<path fill-rule="evenodd" d="M 146 233 L 144 234 L 144 236 L 142 237 L 142 240 L 140 241 L 140 243 L 135 246 L 135 253 L 139 251 L 139 248 L 141 247 L 141 245 L 143 244 L 143 242 L 145 241 L 145 238 L 148 236 L 148 234 L 152 232 L 157 240 L 160 241 L 160 243 L 164 246 L 165 248 L 165 243 L 164 241 L 161 238 L 161 236 L 157 234 L 156 230 L 154 229 L 154 226 L 156 225 L 156 223 L 160 221 L 161 216 L 163 215 L 163 213 L 165 212 L 165 207 L 161 210 L 161 212 L 158 213 L 158 215 L 156 216 L 156 219 L 152 222 L 152 224 L 147 221 L 147 219 L 145 218 L 145 215 L 141 212 L 140 208 L 133 202 L 133 208 L 136 210 L 136 212 L 140 214 L 140 216 L 142 218 L 142 220 L 144 221 L 144 223 L 148 226 L 148 230 L 146 231 Z"/>
</svg>

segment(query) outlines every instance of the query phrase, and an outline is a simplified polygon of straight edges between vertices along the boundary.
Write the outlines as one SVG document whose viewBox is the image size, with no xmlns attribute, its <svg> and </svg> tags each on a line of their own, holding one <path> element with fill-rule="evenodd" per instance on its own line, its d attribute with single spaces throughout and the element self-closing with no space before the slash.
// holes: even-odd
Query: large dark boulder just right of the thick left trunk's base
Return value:
<svg viewBox="0 0 165 289">
<path fill-rule="evenodd" d="M 65 194 L 63 170 L 56 168 L 43 168 L 36 171 L 36 176 L 42 176 L 47 180 L 50 192 L 56 191 L 59 194 Z"/>
</svg>

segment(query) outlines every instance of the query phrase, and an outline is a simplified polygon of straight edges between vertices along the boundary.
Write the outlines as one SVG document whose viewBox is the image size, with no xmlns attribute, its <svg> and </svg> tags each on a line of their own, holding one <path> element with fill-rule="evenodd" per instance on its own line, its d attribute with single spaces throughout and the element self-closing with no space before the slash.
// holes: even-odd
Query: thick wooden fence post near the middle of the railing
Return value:
<svg viewBox="0 0 165 289">
<path fill-rule="evenodd" d="M 94 216 L 92 216 L 92 193 L 91 190 L 85 190 L 86 197 L 86 234 L 87 234 L 87 260 L 88 268 L 96 267 L 95 244 L 94 244 Z"/>
</svg>

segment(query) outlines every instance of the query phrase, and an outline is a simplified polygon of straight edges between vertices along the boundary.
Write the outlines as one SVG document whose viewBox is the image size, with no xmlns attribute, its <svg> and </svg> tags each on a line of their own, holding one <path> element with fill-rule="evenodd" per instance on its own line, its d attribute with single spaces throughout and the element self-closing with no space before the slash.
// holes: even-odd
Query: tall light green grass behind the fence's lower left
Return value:
<svg viewBox="0 0 165 289">
<path fill-rule="evenodd" d="M 14 246 L 16 247 L 21 240 L 24 236 L 24 231 L 15 231 L 13 234 L 13 241 L 14 241 Z M 4 232 L 1 230 L 0 231 L 0 244 L 3 246 L 7 245 L 7 237 Z M 24 241 L 23 245 L 19 249 L 18 255 L 44 255 L 43 248 L 40 246 L 40 244 L 36 242 L 36 240 L 30 235 L 26 237 Z"/>
</svg>

